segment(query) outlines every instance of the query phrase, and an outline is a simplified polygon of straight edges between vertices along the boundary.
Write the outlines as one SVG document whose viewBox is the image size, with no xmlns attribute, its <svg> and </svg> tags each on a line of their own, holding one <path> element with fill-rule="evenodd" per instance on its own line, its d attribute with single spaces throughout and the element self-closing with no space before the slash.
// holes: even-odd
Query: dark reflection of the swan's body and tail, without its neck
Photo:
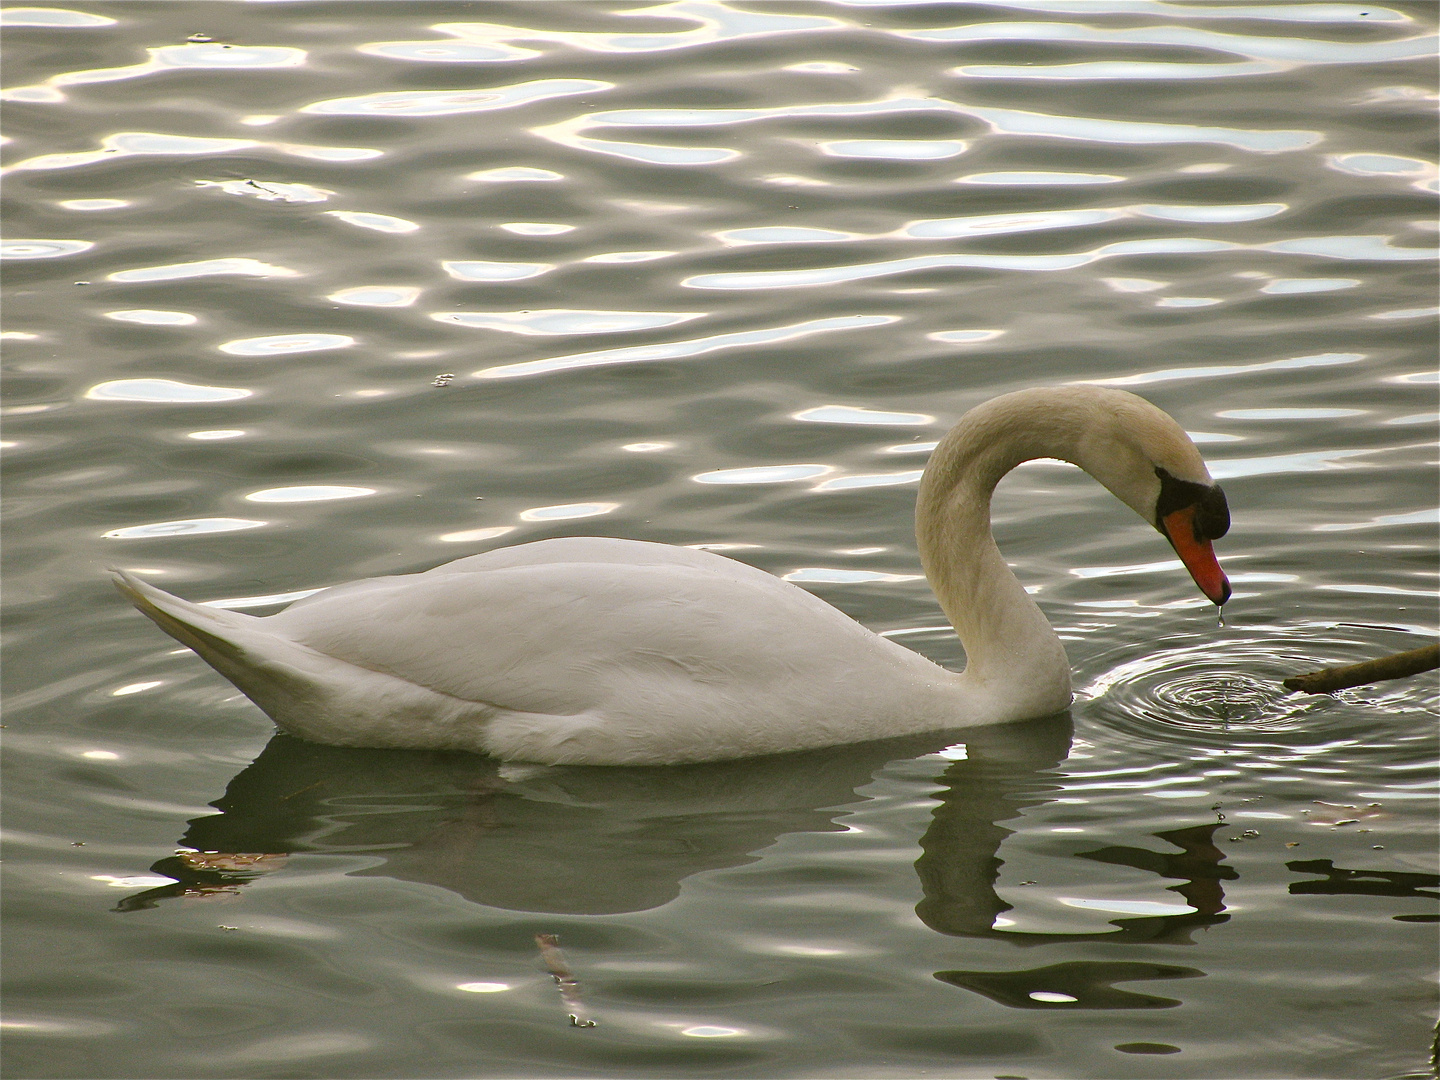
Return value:
<svg viewBox="0 0 1440 1080">
<path fill-rule="evenodd" d="M 1054 763 L 1068 752 L 1070 720 L 634 769 L 503 766 L 471 753 L 276 734 L 212 804 L 219 814 L 192 819 L 181 850 L 151 867 L 174 883 L 115 910 L 235 893 L 298 852 L 377 855 L 382 864 L 351 873 L 439 886 L 516 912 L 647 910 L 678 896 L 693 874 L 756 861 L 785 834 L 842 829 L 835 819 L 864 801 L 857 789 L 887 763 L 956 740 L 972 759 L 1002 766 L 999 775 L 1030 776 L 1028 762 Z M 986 824 L 1014 815 L 1007 792 L 985 788 L 976 812 Z M 988 835 L 1008 835 L 991 828 Z M 989 865 L 995 845 L 956 857 Z"/>
</svg>

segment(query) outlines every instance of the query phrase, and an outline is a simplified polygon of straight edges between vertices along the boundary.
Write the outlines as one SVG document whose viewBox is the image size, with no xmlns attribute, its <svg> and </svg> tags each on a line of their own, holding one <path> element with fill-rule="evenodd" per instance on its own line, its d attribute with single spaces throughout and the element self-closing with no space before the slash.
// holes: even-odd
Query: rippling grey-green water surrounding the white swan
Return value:
<svg viewBox="0 0 1440 1080">
<path fill-rule="evenodd" d="M 1279 681 L 1436 634 L 1434 14 L 12 7 L 4 1074 L 1424 1074 L 1436 680 Z M 963 742 L 311 746 L 102 575 L 706 544 L 958 667 L 926 449 L 1074 380 L 1236 596 L 1021 468 L 1080 693 Z"/>
</svg>

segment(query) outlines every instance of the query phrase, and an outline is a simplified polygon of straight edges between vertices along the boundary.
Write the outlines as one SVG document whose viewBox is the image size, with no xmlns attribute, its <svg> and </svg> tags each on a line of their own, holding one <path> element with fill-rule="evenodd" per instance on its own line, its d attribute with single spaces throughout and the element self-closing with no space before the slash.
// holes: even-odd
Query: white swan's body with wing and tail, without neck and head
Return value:
<svg viewBox="0 0 1440 1080">
<path fill-rule="evenodd" d="M 255 618 L 122 590 L 317 742 L 590 765 L 716 760 L 966 723 L 959 678 L 763 570 L 543 541 Z"/>
</svg>

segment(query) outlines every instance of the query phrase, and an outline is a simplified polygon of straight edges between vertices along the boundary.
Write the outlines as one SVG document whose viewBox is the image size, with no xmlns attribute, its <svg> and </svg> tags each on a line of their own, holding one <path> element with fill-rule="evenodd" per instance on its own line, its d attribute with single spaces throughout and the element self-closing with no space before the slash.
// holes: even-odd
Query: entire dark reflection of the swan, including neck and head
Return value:
<svg viewBox="0 0 1440 1080">
<path fill-rule="evenodd" d="M 1068 716 L 963 732 L 965 756 L 942 791 L 916 861 L 916 913 L 932 930 L 1015 946 L 1064 942 L 1189 945 L 1230 919 L 1236 878 L 1212 842 L 1215 822 L 1155 835 L 1172 851 L 1100 847 L 1079 858 L 1176 880 L 1184 903 L 1120 917 L 1097 933 L 1045 933 L 999 916 L 995 883 L 1007 821 L 1063 789 Z M 364 854 L 348 871 L 439 886 L 513 912 L 616 914 L 674 900 L 694 874 L 755 863 L 791 832 L 837 832 L 857 792 L 888 763 L 958 756 L 950 736 L 837 746 L 688 766 L 504 766 L 461 752 L 323 746 L 276 734 L 194 818 L 181 850 L 154 864 L 171 884 L 122 900 L 135 912 L 170 899 L 232 899 L 292 854 Z M 1142 971 L 1143 968 L 1143 971 Z M 1116 989 L 1129 979 L 1184 979 L 1194 968 L 1071 960 L 1020 971 L 940 971 L 942 982 L 1015 1008 L 1166 1008 L 1171 998 Z"/>
</svg>

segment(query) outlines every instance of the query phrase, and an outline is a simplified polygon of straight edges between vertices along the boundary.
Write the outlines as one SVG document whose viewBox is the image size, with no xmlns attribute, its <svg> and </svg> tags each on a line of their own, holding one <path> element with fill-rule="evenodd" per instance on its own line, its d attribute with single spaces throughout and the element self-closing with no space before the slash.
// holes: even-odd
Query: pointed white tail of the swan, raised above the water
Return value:
<svg viewBox="0 0 1440 1080">
<path fill-rule="evenodd" d="M 145 618 L 194 649 L 282 727 L 297 710 L 328 696 L 325 674 L 338 664 L 334 658 L 262 628 L 253 615 L 183 600 L 124 570 L 111 573 Z"/>
</svg>

